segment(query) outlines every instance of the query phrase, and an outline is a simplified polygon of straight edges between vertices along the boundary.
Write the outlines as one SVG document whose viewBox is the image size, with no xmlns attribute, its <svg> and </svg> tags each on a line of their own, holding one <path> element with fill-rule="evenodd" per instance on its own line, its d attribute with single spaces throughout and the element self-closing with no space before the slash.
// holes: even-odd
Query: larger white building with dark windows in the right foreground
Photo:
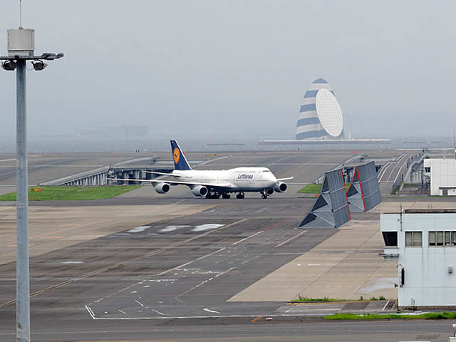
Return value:
<svg viewBox="0 0 456 342">
<path fill-rule="evenodd" d="M 456 306 L 456 210 L 380 214 L 385 259 L 398 261 L 398 306 Z"/>
</svg>

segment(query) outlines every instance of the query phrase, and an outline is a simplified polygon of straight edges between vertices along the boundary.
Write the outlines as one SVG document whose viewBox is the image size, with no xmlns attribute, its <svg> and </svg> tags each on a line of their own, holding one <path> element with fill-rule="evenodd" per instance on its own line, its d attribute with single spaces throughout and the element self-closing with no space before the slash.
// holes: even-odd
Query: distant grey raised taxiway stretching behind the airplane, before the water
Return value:
<svg viewBox="0 0 456 342">
<path fill-rule="evenodd" d="M 298 190 L 310 182 L 314 182 L 324 172 L 341 165 L 343 162 L 356 157 L 361 153 L 369 158 L 380 162 L 397 160 L 403 155 L 402 151 L 353 151 L 353 150 L 326 150 L 326 151 L 266 151 L 266 152 L 219 152 L 210 153 L 206 157 L 204 152 L 189 152 L 187 158 L 201 162 L 199 169 L 222 170 L 239 166 L 269 167 L 276 177 L 294 177 L 289 183 L 288 194 L 296 194 Z M 161 163 L 171 164 L 171 152 L 113 152 L 113 153 L 67 153 L 67 154 L 30 154 L 28 156 L 28 184 L 38 185 L 41 182 L 56 180 L 61 177 L 74 175 L 78 172 L 86 172 L 105 165 L 113 165 L 118 162 L 133 162 L 135 159 L 144 157 L 157 157 L 157 165 Z M 400 169 L 388 167 L 388 177 L 381 181 L 385 187 L 388 182 L 397 177 Z M 380 182 L 380 187 L 383 183 Z M 0 195 L 12 192 L 16 185 L 16 155 L 0 155 Z M 168 195 L 182 195 L 182 187 L 172 187 Z M 177 190 L 177 191 L 176 191 Z M 387 190 L 385 190 L 388 192 Z M 141 192 L 130 194 L 136 197 Z M 389 194 L 389 192 L 388 192 Z M 128 195 L 125 195 L 128 196 Z M 147 195 L 149 196 L 149 195 Z"/>
</svg>

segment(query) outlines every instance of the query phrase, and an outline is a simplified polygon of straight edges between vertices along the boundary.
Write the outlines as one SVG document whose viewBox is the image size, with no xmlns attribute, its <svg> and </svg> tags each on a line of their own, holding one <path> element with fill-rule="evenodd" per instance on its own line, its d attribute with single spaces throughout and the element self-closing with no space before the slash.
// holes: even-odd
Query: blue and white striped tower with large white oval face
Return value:
<svg viewBox="0 0 456 342">
<path fill-rule="evenodd" d="M 343 118 L 333 89 L 323 78 L 312 82 L 302 100 L 296 125 L 296 140 L 337 139 L 343 132 Z"/>
</svg>

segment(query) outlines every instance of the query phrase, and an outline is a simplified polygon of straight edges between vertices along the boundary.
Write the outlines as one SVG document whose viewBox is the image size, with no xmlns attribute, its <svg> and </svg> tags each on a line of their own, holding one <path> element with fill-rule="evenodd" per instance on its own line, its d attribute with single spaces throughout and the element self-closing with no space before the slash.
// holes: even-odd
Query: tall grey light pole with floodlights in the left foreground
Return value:
<svg viewBox="0 0 456 342">
<path fill-rule="evenodd" d="M 1 67 L 16 70 L 16 154 L 17 154 L 17 237 L 16 237 L 16 341 L 30 341 L 30 274 L 28 266 L 28 166 L 26 63 L 36 71 L 46 68 L 44 61 L 63 57 L 63 53 L 34 56 L 35 31 L 19 26 L 8 30 L 8 56 L 0 56 Z"/>
</svg>

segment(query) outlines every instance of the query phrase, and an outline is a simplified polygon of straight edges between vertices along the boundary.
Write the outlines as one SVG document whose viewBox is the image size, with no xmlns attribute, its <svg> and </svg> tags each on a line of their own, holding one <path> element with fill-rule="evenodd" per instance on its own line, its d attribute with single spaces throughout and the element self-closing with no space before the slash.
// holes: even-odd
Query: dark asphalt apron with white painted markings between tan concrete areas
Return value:
<svg viewBox="0 0 456 342">
<path fill-rule="evenodd" d="M 274 314 L 284 303 L 227 300 L 336 232 L 295 229 L 301 211 L 312 202 L 232 200 L 142 227 L 125 223 L 123 232 L 34 257 L 33 331 L 49 325 L 58 329 L 66 320 L 84 327 L 112 318 L 204 320 Z M 15 296 L 15 264 L 0 265 L 0 274 L 0 330 L 11 332 L 15 308 L 8 303 Z"/>
</svg>

